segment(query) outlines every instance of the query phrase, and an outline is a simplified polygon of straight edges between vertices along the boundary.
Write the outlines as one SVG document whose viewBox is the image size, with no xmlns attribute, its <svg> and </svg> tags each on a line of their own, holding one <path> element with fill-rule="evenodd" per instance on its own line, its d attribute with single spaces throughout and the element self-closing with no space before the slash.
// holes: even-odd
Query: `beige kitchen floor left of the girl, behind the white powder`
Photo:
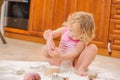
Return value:
<svg viewBox="0 0 120 80">
<path fill-rule="evenodd" d="M 0 43 L 0 60 L 40 61 L 42 44 L 6 38 L 7 44 Z"/>
</svg>

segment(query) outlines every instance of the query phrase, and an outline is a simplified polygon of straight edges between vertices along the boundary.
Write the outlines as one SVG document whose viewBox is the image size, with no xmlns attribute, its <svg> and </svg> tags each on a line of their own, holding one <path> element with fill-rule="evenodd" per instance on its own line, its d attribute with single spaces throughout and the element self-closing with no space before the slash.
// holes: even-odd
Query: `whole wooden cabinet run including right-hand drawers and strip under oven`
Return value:
<svg viewBox="0 0 120 80">
<path fill-rule="evenodd" d="M 8 29 L 6 36 L 20 39 L 17 35 L 22 35 L 24 37 L 21 36 L 21 39 L 45 43 L 43 32 L 46 29 L 55 30 L 61 27 L 70 13 L 84 11 L 92 13 L 95 19 L 96 38 L 93 43 L 99 49 L 104 49 L 103 53 L 108 54 L 107 46 L 110 41 L 111 49 L 120 50 L 120 0 L 31 0 L 30 3 L 28 30 L 18 34 L 19 31 L 12 33 Z"/>
</svg>

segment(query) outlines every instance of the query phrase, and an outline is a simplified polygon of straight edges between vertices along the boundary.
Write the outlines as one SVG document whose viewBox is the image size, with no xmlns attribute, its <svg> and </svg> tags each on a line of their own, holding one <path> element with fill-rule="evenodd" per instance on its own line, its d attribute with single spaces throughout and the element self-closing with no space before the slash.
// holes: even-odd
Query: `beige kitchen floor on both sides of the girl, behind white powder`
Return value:
<svg viewBox="0 0 120 80">
<path fill-rule="evenodd" d="M 43 46 L 40 43 L 6 38 L 7 44 L 0 41 L 0 60 L 12 61 L 44 61 L 40 53 Z M 97 55 L 93 64 L 95 66 L 109 70 L 120 76 L 120 59 Z"/>
</svg>

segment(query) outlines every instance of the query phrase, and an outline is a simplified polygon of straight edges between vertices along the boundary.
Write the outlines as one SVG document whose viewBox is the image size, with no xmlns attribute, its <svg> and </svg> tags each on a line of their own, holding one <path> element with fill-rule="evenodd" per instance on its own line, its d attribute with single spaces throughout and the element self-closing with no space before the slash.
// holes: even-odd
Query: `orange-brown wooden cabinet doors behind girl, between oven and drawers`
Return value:
<svg viewBox="0 0 120 80">
<path fill-rule="evenodd" d="M 42 37 L 44 30 L 61 27 L 68 14 L 76 11 L 90 12 L 96 23 L 96 38 L 94 42 L 105 48 L 109 27 L 109 0 L 32 0 L 33 9 L 31 35 Z"/>
</svg>

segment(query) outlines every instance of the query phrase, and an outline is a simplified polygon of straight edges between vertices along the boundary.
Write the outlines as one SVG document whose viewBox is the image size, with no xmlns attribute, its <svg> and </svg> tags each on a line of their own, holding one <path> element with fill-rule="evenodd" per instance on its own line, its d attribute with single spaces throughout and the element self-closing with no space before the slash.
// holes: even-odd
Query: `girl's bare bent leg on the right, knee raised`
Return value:
<svg viewBox="0 0 120 80">
<path fill-rule="evenodd" d="M 94 44 L 88 45 L 80 54 L 80 56 L 74 60 L 74 67 L 77 69 L 79 75 L 84 76 L 88 66 L 94 60 L 97 53 L 97 47 Z"/>
</svg>

